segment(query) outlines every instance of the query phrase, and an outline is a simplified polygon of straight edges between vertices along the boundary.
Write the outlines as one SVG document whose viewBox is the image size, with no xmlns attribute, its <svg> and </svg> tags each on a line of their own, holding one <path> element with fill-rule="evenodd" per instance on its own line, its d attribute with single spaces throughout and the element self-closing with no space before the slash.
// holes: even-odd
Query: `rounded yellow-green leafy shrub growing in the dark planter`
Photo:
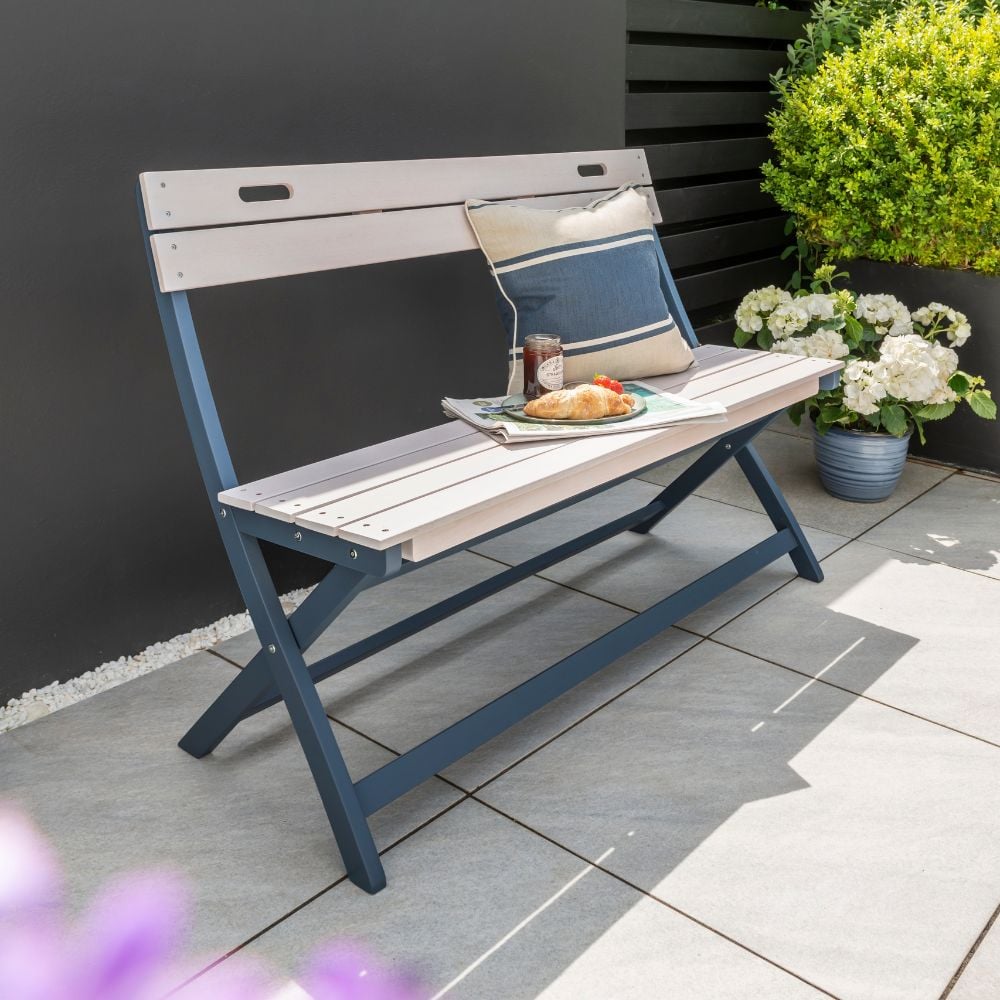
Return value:
<svg viewBox="0 0 1000 1000">
<path fill-rule="evenodd" d="M 839 257 L 1000 273 L 1000 12 L 905 7 L 770 118 L 764 189 Z"/>
</svg>

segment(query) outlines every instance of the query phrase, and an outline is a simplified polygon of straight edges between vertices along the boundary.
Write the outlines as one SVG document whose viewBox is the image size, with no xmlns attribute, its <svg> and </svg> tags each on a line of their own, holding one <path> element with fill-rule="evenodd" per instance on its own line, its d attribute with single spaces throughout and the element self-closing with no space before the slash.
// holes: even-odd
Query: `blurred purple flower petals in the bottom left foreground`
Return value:
<svg viewBox="0 0 1000 1000">
<path fill-rule="evenodd" d="M 162 872 L 117 879 L 71 926 L 55 852 L 27 817 L 0 805 L 0 997 L 16 1000 L 157 1000 L 188 977 L 178 964 L 188 893 Z M 194 967 L 195 969 L 197 966 Z M 175 995 L 266 1000 L 273 976 L 229 958 Z M 303 985 L 314 1000 L 416 1000 L 415 985 L 355 947 L 320 952 Z"/>
</svg>

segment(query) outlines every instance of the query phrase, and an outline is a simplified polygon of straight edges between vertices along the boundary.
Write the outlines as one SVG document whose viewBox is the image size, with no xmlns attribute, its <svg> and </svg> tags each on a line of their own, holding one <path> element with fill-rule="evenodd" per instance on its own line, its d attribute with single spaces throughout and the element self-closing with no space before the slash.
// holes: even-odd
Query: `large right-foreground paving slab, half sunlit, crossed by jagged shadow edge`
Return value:
<svg viewBox="0 0 1000 1000">
<path fill-rule="evenodd" d="M 937 998 L 1000 893 L 995 747 L 712 642 L 478 794 L 843 998 Z"/>
</svg>

